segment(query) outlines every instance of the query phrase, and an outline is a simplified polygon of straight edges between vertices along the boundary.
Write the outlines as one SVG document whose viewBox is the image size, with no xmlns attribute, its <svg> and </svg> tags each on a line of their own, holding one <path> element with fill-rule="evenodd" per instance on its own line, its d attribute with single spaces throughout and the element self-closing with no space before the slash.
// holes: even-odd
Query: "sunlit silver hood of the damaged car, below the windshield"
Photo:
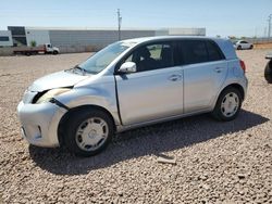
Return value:
<svg viewBox="0 0 272 204">
<path fill-rule="evenodd" d="M 40 92 L 54 88 L 71 87 L 88 77 L 89 75 L 83 76 L 71 72 L 62 71 L 35 80 L 33 85 L 28 88 L 28 90 Z"/>
</svg>

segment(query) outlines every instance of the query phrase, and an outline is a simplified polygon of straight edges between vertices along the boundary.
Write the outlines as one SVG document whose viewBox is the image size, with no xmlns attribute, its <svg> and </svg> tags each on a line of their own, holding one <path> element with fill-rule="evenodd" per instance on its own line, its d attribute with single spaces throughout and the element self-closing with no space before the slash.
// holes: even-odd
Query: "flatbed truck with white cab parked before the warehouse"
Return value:
<svg viewBox="0 0 272 204">
<path fill-rule="evenodd" d="M 38 54 L 38 53 L 45 53 L 45 54 L 59 54 L 60 49 L 57 47 L 52 47 L 51 43 L 45 43 L 42 46 L 38 47 L 20 47 L 16 48 L 13 51 L 14 54 L 25 54 L 25 55 L 32 55 L 32 54 Z"/>
</svg>

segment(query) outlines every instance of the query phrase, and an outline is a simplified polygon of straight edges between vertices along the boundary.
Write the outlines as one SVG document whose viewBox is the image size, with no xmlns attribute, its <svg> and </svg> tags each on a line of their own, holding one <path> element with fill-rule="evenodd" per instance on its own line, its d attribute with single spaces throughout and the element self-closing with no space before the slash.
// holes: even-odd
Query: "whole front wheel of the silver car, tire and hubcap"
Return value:
<svg viewBox="0 0 272 204">
<path fill-rule="evenodd" d="M 70 115 L 65 129 L 64 143 L 70 152 L 77 156 L 92 156 L 111 141 L 113 122 L 102 111 L 83 109 Z"/>
</svg>

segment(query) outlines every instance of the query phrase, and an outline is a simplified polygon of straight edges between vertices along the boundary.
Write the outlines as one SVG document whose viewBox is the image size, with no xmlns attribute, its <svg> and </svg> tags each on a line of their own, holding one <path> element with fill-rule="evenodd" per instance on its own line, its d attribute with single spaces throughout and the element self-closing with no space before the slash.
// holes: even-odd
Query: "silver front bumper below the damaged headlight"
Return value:
<svg viewBox="0 0 272 204">
<path fill-rule="evenodd" d="M 59 146 L 58 126 L 66 110 L 52 103 L 25 104 L 17 106 L 23 137 L 34 145 Z"/>
</svg>

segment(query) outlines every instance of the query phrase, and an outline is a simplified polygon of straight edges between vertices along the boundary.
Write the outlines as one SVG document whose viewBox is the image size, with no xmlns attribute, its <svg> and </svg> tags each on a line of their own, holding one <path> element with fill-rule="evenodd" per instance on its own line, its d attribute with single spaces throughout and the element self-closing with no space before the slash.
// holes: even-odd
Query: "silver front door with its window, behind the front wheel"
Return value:
<svg viewBox="0 0 272 204">
<path fill-rule="evenodd" d="M 137 72 L 115 76 L 123 125 L 183 113 L 183 71 L 173 66 L 172 42 L 143 46 L 125 62 L 135 62 Z"/>
</svg>

